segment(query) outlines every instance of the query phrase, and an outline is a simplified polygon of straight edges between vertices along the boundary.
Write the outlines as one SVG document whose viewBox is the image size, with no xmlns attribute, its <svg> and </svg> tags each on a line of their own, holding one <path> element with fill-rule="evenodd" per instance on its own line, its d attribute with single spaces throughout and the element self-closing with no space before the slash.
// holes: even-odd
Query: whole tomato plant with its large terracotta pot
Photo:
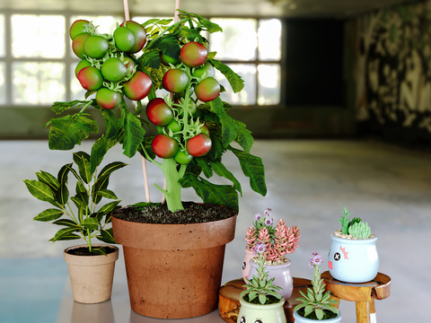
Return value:
<svg viewBox="0 0 431 323">
<path fill-rule="evenodd" d="M 165 203 L 119 208 L 112 226 L 124 249 L 132 309 L 180 319 L 217 307 L 224 248 L 233 240 L 242 194 L 239 180 L 224 166 L 224 153 L 238 158 L 253 190 L 264 196 L 267 188 L 263 163 L 251 154 L 251 132 L 228 114 L 231 106 L 220 98 L 226 90 L 216 81 L 216 70 L 233 92 L 242 90 L 242 78 L 218 61 L 216 52 L 208 52 L 202 36 L 222 29 L 183 11 L 171 22 L 123 22 L 112 35 L 99 34 L 91 22 L 74 22 L 72 46 L 82 58 L 75 72 L 88 92 L 85 100 L 55 102 L 52 110 L 58 114 L 78 112 L 52 118 L 47 127 L 50 149 L 73 149 L 98 134 L 91 170 L 115 144 L 129 158 L 140 154 L 163 170 L 166 187 L 156 188 Z M 87 109 L 101 113 L 104 130 Z M 227 184 L 207 180 L 214 175 Z M 194 188 L 203 203 L 183 202 L 182 188 Z M 179 273 L 186 274 L 178 279 Z"/>
</svg>

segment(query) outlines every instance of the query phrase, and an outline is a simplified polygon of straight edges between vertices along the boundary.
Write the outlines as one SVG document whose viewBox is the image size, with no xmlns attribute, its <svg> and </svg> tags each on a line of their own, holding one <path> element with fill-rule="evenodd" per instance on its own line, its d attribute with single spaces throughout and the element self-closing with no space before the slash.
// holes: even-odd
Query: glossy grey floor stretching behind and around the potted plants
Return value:
<svg viewBox="0 0 431 323">
<path fill-rule="evenodd" d="M 89 143 L 82 150 L 89 151 Z M 247 187 L 236 238 L 227 245 L 223 282 L 241 276 L 243 235 L 254 214 L 267 207 L 276 218 L 299 225 L 300 247 L 291 255 L 295 276 L 310 278 L 311 252 L 326 256 L 330 233 L 339 227 L 343 206 L 367 220 L 377 234 L 380 271 L 392 278 L 391 297 L 376 302 L 379 323 L 426 322 L 431 303 L 431 154 L 387 144 L 353 141 L 257 141 L 253 153 L 267 170 L 268 196 Z M 163 322 L 137 315 L 129 308 L 124 265 L 116 266 L 111 301 L 82 305 L 72 300 L 62 250 L 71 242 L 47 240 L 52 225 L 32 222 L 44 210 L 26 191 L 22 179 L 34 171 L 57 172 L 72 161 L 70 152 L 52 152 L 43 141 L 0 142 L 0 322 Z M 140 160 L 127 160 L 119 148 L 108 162 L 130 165 L 112 176 L 111 189 L 128 205 L 145 199 Z M 240 173 L 233 156 L 227 167 Z M 150 182 L 162 185 L 160 173 L 149 165 Z M 186 190 L 184 199 L 193 199 Z M 160 196 L 152 191 L 152 199 Z M 326 265 L 323 270 L 326 270 Z M 353 303 L 342 302 L 343 322 L 355 322 Z M 223 322 L 216 312 L 187 322 Z"/>
</svg>

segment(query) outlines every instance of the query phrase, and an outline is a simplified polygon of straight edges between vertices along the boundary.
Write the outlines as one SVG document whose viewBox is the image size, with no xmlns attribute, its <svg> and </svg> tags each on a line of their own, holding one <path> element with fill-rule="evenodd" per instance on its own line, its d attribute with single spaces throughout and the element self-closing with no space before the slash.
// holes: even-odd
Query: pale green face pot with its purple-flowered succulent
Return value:
<svg viewBox="0 0 431 323">
<path fill-rule="evenodd" d="M 281 287 L 275 284 L 274 278 L 269 278 L 265 266 L 265 250 L 263 242 L 256 243 L 253 248 L 253 253 L 257 255 L 258 270 L 251 279 L 246 278 L 248 283 L 244 285 L 246 290 L 240 294 L 238 323 L 286 323 L 283 309 L 285 299 L 278 292 Z"/>
</svg>

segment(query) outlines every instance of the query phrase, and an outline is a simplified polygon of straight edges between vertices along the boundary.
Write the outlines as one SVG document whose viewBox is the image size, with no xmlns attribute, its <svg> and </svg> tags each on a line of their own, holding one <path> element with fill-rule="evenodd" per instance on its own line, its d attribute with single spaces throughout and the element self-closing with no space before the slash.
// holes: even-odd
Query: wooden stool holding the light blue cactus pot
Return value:
<svg viewBox="0 0 431 323">
<path fill-rule="evenodd" d="M 340 282 L 329 271 L 322 273 L 321 278 L 326 290 L 331 292 L 331 298 L 336 301 L 356 301 L 357 323 L 375 323 L 374 300 L 383 300 L 391 294 L 391 277 L 381 273 L 373 281 L 359 284 Z"/>
</svg>

